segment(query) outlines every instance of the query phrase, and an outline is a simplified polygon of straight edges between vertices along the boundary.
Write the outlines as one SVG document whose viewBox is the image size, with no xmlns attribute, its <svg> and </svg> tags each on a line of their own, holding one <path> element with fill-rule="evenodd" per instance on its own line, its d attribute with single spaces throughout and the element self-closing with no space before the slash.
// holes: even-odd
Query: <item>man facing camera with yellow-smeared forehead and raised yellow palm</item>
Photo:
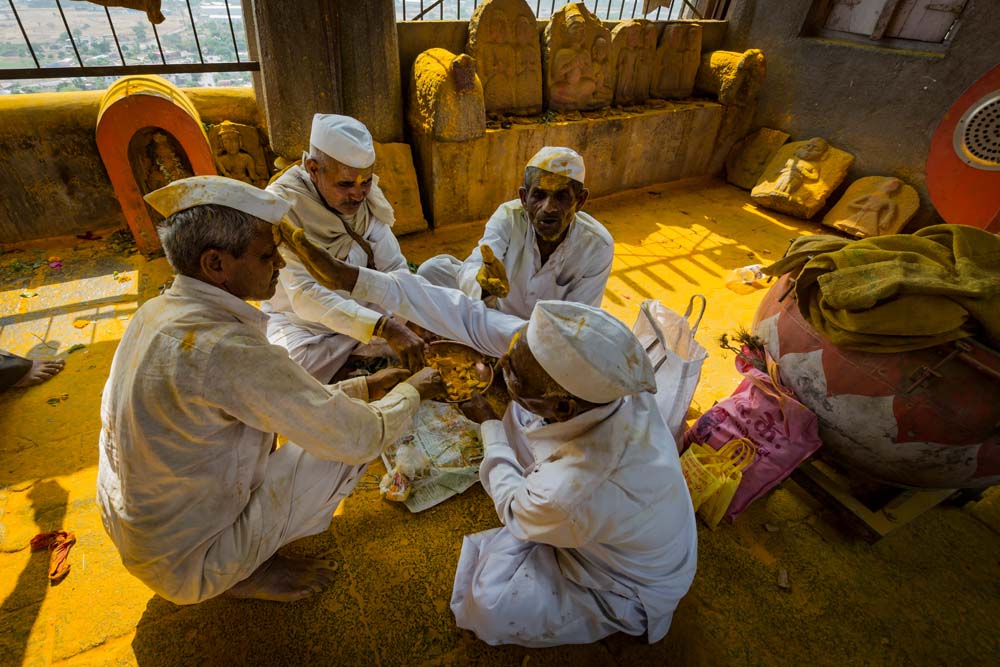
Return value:
<svg viewBox="0 0 1000 667">
<path fill-rule="evenodd" d="M 600 307 L 614 241 L 604 225 L 580 210 L 588 195 L 585 176 L 583 157 L 573 149 L 542 148 L 524 169 L 519 199 L 497 208 L 468 259 L 438 255 L 418 273 L 473 299 L 496 299 L 500 311 L 521 318 L 543 299 Z M 496 261 L 483 260 L 483 246 Z"/>
</svg>

